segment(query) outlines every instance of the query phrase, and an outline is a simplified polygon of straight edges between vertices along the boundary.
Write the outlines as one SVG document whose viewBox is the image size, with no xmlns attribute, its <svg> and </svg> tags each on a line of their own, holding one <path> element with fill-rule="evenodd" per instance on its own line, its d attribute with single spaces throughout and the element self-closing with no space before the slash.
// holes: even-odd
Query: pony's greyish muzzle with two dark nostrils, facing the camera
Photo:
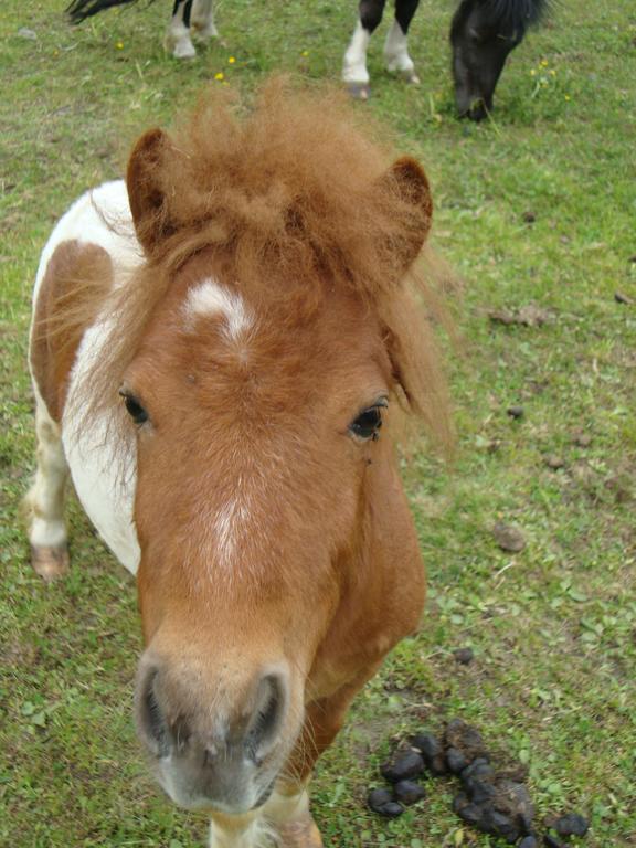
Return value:
<svg viewBox="0 0 636 848">
<path fill-rule="evenodd" d="M 284 667 L 259 671 L 246 686 L 205 681 L 145 657 L 135 693 L 137 731 L 159 783 L 189 809 L 245 813 L 263 804 L 282 765 L 289 712 Z"/>
</svg>

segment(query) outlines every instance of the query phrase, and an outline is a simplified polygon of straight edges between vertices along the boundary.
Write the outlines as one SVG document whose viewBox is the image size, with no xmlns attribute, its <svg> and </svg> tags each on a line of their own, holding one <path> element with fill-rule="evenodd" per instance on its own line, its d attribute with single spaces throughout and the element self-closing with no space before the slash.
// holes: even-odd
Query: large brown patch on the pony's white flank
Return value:
<svg viewBox="0 0 636 848">
<path fill-rule="evenodd" d="M 62 420 L 77 346 L 95 321 L 112 274 L 106 251 L 76 241 L 62 242 L 46 266 L 31 327 L 30 361 L 53 421 Z"/>
</svg>

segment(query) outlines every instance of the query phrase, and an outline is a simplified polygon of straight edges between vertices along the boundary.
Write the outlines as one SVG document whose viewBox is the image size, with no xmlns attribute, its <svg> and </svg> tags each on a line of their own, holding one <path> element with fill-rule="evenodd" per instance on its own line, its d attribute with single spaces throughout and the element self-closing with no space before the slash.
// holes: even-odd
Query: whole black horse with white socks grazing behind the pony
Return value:
<svg viewBox="0 0 636 848">
<path fill-rule="evenodd" d="M 72 0 L 67 12 L 74 23 L 113 6 L 137 0 Z M 353 96 L 369 97 L 367 47 L 379 26 L 386 0 L 360 0 L 359 20 L 344 54 L 342 78 Z M 389 71 L 418 83 L 406 39 L 420 0 L 395 0 L 395 20 L 384 43 Z M 451 24 L 453 76 L 459 115 L 481 120 L 492 110 L 492 95 L 510 51 L 538 23 L 550 0 L 462 0 Z M 212 0 L 174 0 L 166 33 L 166 47 L 178 59 L 197 51 L 191 32 L 201 39 L 216 35 Z"/>
</svg>

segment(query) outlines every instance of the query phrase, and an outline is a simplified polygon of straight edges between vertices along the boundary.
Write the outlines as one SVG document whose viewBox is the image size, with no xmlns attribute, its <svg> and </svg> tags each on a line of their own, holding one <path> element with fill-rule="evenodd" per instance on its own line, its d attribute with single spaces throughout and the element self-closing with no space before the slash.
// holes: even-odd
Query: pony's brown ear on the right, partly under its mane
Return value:
<svg viewBox="0 0 636 848">
<path fill-rule="evenodd" d="M 428 180 L 420 163 L 410 156 L 398 159 L 380 178 L 380 190 L 400 203 L 400 220 L 390 240 L 389 250 L 401 279 L 417 258 L 433 218 L 433 200 Z"/>
</svg>

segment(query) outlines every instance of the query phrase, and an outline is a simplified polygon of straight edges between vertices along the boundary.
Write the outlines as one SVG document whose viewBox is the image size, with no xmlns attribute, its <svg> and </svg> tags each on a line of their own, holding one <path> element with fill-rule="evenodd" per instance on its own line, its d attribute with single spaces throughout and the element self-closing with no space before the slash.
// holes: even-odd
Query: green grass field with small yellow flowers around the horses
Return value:
<svg viewBox="0 0 636 848">
<path fill-rule="evenodd" d="M 218 74 L 246 89 L 276 68 L 337 78 L 354 4 L 221 2 L 224 43 L 186 64 L 161 50 L 168 3 L 81 29 L 63 6 L 6 3 L 0 19 L 0 846 L 203 846 L 204 819 L 160 796 L 135 740 L 132 580 L 74 502 L 71 576 L 45 586 L 29 566 L 30 287 L 53 222 L 120 174 L 138 131 Z M 527 764 L 539 819 L 576 808 L 590 848 L 636 846 L 636 8 L 560 3 L 480 126 L 454 117 L 451 13 L 427 0 L 415 20 L 417 89 L 373 44 L 373 98 L 357 108 L 426 165 L 433 240 L 464 280 L 458 456 L 452 469 L 404 459 L 431 598 L 321 761 L 315 814 L 341 848 L 495 846 L 451 812 L 451 782 L 392 823 L 364 805 L 396 741 L 460 716 L 501 763 Z M 540 327 L 488 315 L 530 304 L 548 312 Z M 499 520 L 521 530 L 521 553 L 499 550 Z M 452 654 L 464 646 L 467 667 Z"/>
</svg>

